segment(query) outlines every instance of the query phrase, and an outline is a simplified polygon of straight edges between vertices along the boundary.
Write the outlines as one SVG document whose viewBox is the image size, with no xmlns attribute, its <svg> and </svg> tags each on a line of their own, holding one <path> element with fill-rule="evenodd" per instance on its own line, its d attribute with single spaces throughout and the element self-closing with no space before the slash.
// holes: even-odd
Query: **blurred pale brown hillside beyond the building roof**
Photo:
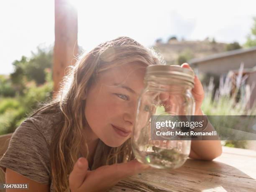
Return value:
<svg viewBox="0 0 256 192">
<path fill-rule="evenodd" d="M 225 51 L 225 43 L 204 41 L 170 40 L 168 43 L 157 42 L 154 49 L 160 52 L 167 64 L 178 64 L 179 55 L 186 55 L 189 59 L 200 58 Z"/>
</svg>

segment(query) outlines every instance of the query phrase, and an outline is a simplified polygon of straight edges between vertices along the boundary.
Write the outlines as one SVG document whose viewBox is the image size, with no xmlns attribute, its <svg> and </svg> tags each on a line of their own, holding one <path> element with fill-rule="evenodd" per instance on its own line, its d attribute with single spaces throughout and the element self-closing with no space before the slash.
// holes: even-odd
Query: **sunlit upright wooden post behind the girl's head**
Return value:
<svg viewBox="0 0 256 192">
<path fill-rule="evenodd" d="M 74 65 L 77 54 L 77 10 L 69 0 L 55 0 L 54 95 L 66 67 Z"/>
</svg>

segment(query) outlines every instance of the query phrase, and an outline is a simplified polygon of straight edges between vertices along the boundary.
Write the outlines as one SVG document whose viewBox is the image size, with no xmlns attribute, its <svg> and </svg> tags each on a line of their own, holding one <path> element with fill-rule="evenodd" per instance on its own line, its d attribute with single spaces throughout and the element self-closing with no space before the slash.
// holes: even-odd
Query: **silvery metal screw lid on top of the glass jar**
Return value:
<svg viewBox="0 0 256 192">
<path fill-rule="evenodd" d="M 149 65 L 146 68 L 145 80 L 151 80 L 152 77 L 169 77 L 194 84 L 195 73 L 179 65 Z"/>
</svg>

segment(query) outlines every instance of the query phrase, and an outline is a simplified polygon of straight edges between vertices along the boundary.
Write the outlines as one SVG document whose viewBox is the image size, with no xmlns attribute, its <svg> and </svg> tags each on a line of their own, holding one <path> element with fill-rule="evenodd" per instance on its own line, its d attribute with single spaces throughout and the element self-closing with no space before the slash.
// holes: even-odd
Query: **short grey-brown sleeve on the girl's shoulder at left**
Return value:
<svg viewBox="0 0 256 192">
<path fill-rule="evenodd" d="M 50 182 L 49 145 L 44 135 L 28 118 L 13 133 L 8 149 L 0 160 L 3 171 L 9 168 L 42 184 Z"/>
</svg>

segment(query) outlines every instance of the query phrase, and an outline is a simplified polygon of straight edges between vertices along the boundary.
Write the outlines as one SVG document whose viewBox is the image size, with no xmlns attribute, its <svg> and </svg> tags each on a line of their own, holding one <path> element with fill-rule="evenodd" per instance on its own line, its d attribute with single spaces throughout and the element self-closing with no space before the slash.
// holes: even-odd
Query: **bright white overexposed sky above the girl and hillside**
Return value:
<svg viewBox="0 0 256 192">
<path fill-rule="evenodd" d="M 246 42 L 256 16 L 255 0 L 70 0 L 78 11 L 78 44 L 89 51 L 128 36 L 145 46 L 171 36 Z M 36 47 L 54 45 L 54 0 L 0 2 L 0 74 Z"/>
</svg>

